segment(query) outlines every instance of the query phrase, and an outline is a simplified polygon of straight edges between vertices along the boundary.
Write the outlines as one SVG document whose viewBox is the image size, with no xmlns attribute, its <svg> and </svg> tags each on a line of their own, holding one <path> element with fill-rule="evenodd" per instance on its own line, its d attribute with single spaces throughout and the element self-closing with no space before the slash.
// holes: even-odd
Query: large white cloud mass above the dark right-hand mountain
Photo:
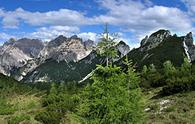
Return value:
<svg viewBox="0 0 195 124">
<path fill-rule="evenodd" d="M 132 32 L 139 40 L 140 35 L 159 29 L 173 32 L 193 30 L 193 22 L 187 12 L 176 7 L 153 5 L 150 0 L 99 0 L 99 4 L 108 12 L 95 17 L 99 23 L 107 22 L 121 27 L 122 31 Z"/>
</svg>

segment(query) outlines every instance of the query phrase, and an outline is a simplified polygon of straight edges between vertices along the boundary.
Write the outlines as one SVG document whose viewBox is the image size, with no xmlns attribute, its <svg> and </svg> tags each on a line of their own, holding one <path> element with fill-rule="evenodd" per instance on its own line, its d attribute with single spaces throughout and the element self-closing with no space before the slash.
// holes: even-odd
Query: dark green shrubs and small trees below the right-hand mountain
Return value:
<svg viewBox="0 0 195 124">
<path fill-rule="evenodd" d="M 141 72 L 144 88 L 154 88 L 163 86 L 162 94 L 171 95 L 178 92 L 186 92 L 195 89 L 195 76 L 192 72 L 192 65 L 187 58 L 181 67 L 174 67 L 171 61 L 163 64 L 163 69 L 156 69 L 153 64 L 147 68 L 143 67 Z"/>
</svg>

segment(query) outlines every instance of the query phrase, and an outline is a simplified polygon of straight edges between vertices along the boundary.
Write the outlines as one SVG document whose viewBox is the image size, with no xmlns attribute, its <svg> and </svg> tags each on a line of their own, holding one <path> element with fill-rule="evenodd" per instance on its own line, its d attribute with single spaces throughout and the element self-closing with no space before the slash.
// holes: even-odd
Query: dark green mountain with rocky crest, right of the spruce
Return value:
<svg viewBox="0 0 195 124">
<path fill-rule="evenodd" d="M 168 30 L 159 30 L 149 37 L 146 36 L 140 47 L 131 50 L 127 56 L 138 69 L 149 64 L 160 68 L 167 60 L 172 61 L 175 66 L 180 66 L 184 57 L 188 57 L 189 61 L 195 60 L 192 33 L 178 37 L 176 34 L 171 35 Z M 121 65 L 124 59 L 118 63 Z"/>
</svg>

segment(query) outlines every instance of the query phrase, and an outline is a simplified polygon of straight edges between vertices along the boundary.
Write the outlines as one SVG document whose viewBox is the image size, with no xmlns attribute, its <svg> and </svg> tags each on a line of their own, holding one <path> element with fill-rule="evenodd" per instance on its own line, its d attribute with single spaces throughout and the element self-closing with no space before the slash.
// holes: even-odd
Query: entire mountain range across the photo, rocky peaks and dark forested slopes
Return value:
<svg viewBox="0 0 195 124">
<path fill-rule="evenodd" d="M 118 50 L 115 64 L 122 65 L 127 56 L 138 70 L 149 64 L 160 68 L 166 60 L 180 66 L 184 57 L 195 61 L 191 32 L 177 36 L 161 29 L 141 40 L 138 48 L 130 50 L 131 46 L 123 41 L 113 47 Z M 105 64 L 105 58 L 97 54 L 97 49 L 94 41 L 83 41 L 76 35 L 69 38 L 60 35 L 49 42 L 10 39 L 0 46 L 0 73 L 25 82 L 81 81 L 97 64 Z"/>
</svg>

